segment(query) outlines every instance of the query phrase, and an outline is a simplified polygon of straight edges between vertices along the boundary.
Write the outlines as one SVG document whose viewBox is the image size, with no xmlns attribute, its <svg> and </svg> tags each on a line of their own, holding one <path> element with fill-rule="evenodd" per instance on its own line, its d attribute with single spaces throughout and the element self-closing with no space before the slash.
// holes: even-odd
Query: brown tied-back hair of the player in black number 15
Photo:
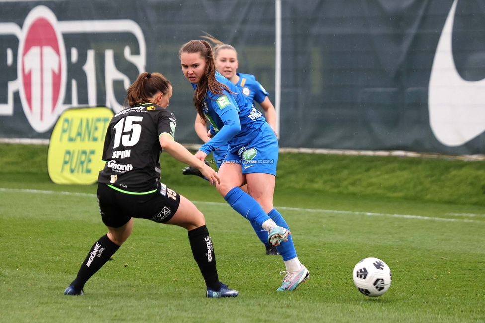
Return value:
<svg viewBox="0 0 485 323">
<path fill-rule="evenodd" d="M 128 95 L 123 105 L 133 106 L 141 103 L 150 103 L 150 99 L 159 91 L 167 94 L 170 86 L 170 81 L 162 74 L 142 72 L 126 90 Z"/>
</svg>

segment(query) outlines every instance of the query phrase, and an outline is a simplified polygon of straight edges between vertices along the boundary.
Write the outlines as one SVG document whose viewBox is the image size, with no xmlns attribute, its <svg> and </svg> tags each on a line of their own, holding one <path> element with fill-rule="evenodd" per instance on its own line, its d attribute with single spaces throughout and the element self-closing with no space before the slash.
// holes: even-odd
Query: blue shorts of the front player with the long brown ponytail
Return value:
<svg viewBox="0 0 485 323">
<path fill-rule="evenodd" d="M 269 124 L 264 123 L 244 144 L 230 146 L 223 162 L 240 164 L 243 174 L 263 173 L 276 176 L 278 140 Z"/>
</svg>

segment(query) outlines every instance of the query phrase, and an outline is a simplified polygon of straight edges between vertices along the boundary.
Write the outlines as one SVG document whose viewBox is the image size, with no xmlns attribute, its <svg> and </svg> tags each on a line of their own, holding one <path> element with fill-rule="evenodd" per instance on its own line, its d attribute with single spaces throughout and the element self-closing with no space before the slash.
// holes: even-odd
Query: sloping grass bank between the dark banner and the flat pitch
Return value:
<svg viewBox="0 0 485 323">
<path fill-rule="evenodd" d="M 0 144 L 0 151 L 4 180 L 28 180 L 35 186 L 48 179 L 47 146 Z M 205 190 L 207 183 L 200 178 L 181 175 L 184 164 L 166 155 L 161 163 L 162 181 L 177 189 Z M 485 206 L 485 161 L 280 154 L 276 193 L 290 191 Z M 205 195 L 215 199 L 217 193 Z"/>
</svg>

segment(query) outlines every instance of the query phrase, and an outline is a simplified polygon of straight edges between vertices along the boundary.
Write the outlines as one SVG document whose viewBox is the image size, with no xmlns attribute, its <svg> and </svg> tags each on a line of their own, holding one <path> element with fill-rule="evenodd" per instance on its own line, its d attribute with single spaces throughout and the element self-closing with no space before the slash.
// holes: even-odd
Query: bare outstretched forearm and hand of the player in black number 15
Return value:
<svg viewBox="0 0 485 323">
<path fill-rule="evenodd" d="M 221 179 L 217 172 L 211 167 L 207 166 L 204 161 L 197 159 L 185 147 L 173 140 L 169 134 L 161 134 L 159 138 L 162 149 L 170 154 L 177 161 L 181 161 L 189 166 L 195 167 L 209 180 L 212 184 L 217 185 L 221 183 Z"/>
</svg>

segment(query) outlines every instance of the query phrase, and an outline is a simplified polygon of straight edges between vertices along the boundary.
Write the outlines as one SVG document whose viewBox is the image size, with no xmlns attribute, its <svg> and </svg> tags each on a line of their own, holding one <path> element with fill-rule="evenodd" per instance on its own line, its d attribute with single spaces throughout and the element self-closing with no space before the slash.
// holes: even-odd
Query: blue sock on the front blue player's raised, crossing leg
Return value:
<svg viewBox="0 0 485 323">
<path fill-rule="evenodd" d="M 224 196 L 224 199 L 236 212 L 259 227 L 264 221 L 269 220 L 269 216 L 264 212 L 261 205 L 239 187 L 230 190 Z"/>
</svg>

